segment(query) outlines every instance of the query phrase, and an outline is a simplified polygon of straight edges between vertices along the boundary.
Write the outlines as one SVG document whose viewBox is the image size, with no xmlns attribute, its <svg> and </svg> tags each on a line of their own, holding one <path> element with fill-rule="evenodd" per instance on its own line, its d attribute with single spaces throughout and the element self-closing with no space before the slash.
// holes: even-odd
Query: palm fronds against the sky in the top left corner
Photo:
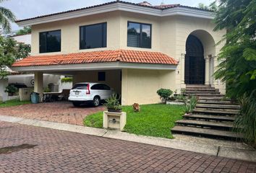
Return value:
<svg viewBox="0 0 256 173">
<path fill-rule="evenodd" d="M 7 0 L 0 0 L 0 3 L 2 1 Z M 0 6 L 0 25 L 3 27 L 3 30 L 10 32 L 12 30 L 11 22 L 14 22 L 15 19 L 15 15 L 9 9 Z"/>
</svg>

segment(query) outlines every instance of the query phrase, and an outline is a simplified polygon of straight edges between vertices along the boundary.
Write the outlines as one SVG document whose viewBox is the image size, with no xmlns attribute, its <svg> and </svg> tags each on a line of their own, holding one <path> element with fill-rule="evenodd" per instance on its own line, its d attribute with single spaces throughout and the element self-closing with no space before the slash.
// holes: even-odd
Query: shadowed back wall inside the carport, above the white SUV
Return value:
<svg viewBox="0 0 256 173">
<path fill-rule="evenodd" d="M 114 92 L 121 94 L 121 70 L 108 70 L 106 72 L 106 81 L 98 81 L 98 71 L 77 72 L 73 76 L 73 84 L 79 82 L 97 82 L 111 86 Z"/>
</svg>

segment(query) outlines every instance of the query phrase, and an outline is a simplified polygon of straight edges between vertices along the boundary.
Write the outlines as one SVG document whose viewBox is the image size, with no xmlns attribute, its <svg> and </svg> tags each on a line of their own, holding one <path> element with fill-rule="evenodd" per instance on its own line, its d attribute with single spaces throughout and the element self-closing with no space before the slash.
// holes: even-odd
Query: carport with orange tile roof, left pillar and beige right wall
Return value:
<svg viewBox="0 0 256 173">
<path fill-rule="evenodd" d="M 157 89 L 175 89 L 178 62 L 163 53 L 138 50 L 102 50 L 46 56 L 29 56 L 12 70 L 35 74 L 34 91 L 43 94 L 43 74 L 73 76 L 77 82 L 100 82 L 121 94 L 122 105 L 159 102 Z"/>
</svg>

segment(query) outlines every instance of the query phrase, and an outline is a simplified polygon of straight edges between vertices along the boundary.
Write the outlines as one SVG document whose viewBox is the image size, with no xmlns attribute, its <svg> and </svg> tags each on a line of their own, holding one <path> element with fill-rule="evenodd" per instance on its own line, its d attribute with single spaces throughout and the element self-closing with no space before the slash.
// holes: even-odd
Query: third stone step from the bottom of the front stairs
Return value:
<svg viewBox="0 0 256 173">
<path fill-rule="evenodd" d="M 183 115 L 184 119 L 194 119 L 194 120 L 215 120 L 215 121 L 230 121 L 234 122 L 234 116 L 221 116 L 221 115 Z"/>
</svg>

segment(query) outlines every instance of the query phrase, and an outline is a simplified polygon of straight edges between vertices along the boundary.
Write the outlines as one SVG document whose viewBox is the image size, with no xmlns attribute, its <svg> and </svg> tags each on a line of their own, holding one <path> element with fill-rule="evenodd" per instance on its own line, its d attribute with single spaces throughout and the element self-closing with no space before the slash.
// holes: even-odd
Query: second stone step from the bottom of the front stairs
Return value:
<svg viewBox="0 0 256 173">
<path fill-rule="evenodd" d="M 177 120 L 176 125 L 192 125 L 202 128 L 226 129 L 231 130 L 234 125 L 231 122 L 213 122 L 205 120 Z"/>
</svg>

